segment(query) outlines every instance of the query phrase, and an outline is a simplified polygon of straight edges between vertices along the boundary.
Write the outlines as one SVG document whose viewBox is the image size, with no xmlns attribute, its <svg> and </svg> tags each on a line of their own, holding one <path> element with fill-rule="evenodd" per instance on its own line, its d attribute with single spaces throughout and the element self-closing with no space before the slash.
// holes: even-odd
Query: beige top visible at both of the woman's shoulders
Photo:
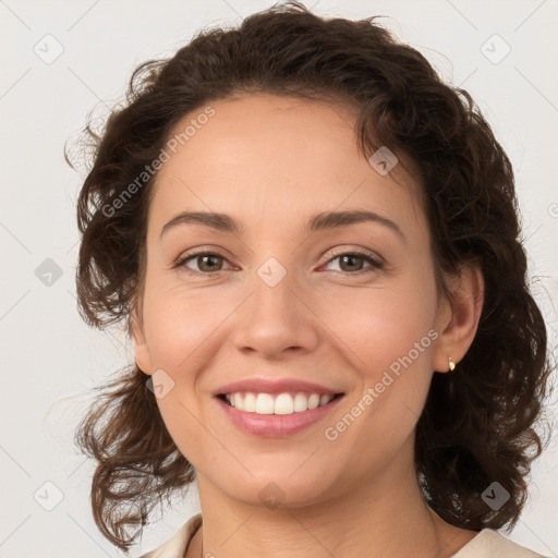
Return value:
<svg viewBox="0 0 558 558">
<path fill-rule="evenodd" d="M 190 518 L 168 541 L 140 558 L 183 558 L 202 526 L 202 512 Z M 513 543 L 495 530 L 483 529 L 450 558 L 545 558 Z"/>
</svg>

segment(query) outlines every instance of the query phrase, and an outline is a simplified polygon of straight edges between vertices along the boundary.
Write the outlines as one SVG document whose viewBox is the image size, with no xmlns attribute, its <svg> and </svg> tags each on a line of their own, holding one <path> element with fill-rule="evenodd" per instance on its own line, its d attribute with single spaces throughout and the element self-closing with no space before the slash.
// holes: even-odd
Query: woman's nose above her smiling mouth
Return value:
<svg viewBox="0 0 558 558">
<path fill-rule="evenodd" d="M 257 276 L 252 294 L 239 308 L 233 341 L 238 350 L 259 353 L 266 360 L 284 359 L 296 350 L 314 350 L 319 339 L 319 319 L 305 290 L 287 274 L 271 286 Z"/>
</svg>

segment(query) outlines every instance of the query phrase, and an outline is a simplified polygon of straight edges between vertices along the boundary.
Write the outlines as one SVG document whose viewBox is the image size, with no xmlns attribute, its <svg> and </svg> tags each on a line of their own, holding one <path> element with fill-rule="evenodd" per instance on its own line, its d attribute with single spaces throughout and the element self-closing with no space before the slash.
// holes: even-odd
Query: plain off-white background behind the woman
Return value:
<svg viewBox="0 0 558 558">
<path fill-rule="evenodd" d="M 122 98 L 140 62 L 173 53 L 201 27 L 238 24 L 271 4 L 0 0 L 1 558 L 122 556 L 93 521 L 94 463 L 77 453 L 72 435 L 87 389 L 133 362 L 132 344 L 118 331 L 89 330 L 77 315 L 75 199 L 84 175 L 64 162 L 64 142 L 82 130 L 89 110 L 104 116 L 105 104 Z M 478 102 L 514 165 L 533 288 L 556 343 L 558 2 L 305 4 L 323 15 L 391 16 L 385 20 L 389 28 Z M 34 51 L 47 34 L 63 47 L 50 64 Z M 481 50 L 494 34 L 511 48 L 497 64 Z M 493 56 L 502 47 L 488 43 Z M 35 275 L 47 258 L 62 270 L 50 287 Z M 554 405 L 550 418 L 556 416 Z M 529 506 L 509 534 L 546 556 L 558 554 L 556 438 L 533 469 Z M 52 511 L 34 499 L 45 482 L 63 494 Z M 53 498 L 56 489 L 47 485 L 47 493 Z M 133 556 L 167 539 L 197 506 L 194 488 L 190 500 L 144 532 Z"/>
</svg>

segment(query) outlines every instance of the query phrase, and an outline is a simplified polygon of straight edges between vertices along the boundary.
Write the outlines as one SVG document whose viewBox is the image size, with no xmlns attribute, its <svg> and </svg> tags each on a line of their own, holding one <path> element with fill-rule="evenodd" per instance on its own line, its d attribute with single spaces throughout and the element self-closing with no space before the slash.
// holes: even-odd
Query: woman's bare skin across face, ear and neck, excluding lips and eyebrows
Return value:
<svg viewBox="0 0 558 558">
<path fill-rule="evenodd" d="M 424 501 L 414 435 L 433 374 L 447 373 L 448 357 L 459 363 L 473 341 L 481 272 L 463 268 L 450 298 L 437 292 L 417 174 L 400 163 L 380 175 L 357 153 L 347 107 L 268 94 L 211 106 L 215 116 L 159 171 L 133 322 L 142 371 L 163 369 L 174 381 L 157 403 L 197 474 L 204 525 L 187 556 L 451 556 L 477 533 L 446 523 Z M 405 239 L 377 222 L 304 232 L 311 216 L 345 209 L 375 211 Z M 245 230 L 190 223 L 159 238 L 182 210 L 226 213 Z M 194 247 L 222 258 L 206 267 L 190 259 L 197 275 L 172 268 Z M 343 266 L 339 255 L 359 248 L 384 266 L 368 274 L 357 274 L 371 269 L 365 259 Z M 274 288 L 257 275 L 269 257 L 287 270 Z M 437 339 L 326 439 L 324 429 L 429 330 Z M 211 392 L 255 376 L 300 377 L 345 397 L 292 437 L 253 436 L 229 422 Z M 268 483 L 283 494 L 272 509 L 258 498 Z"/>
</svg>

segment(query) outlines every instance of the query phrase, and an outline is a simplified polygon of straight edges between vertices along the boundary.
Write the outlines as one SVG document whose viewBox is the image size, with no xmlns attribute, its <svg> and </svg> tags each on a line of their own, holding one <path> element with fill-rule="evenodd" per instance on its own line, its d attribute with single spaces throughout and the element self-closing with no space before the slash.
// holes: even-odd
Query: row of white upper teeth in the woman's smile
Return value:
<svg viewBox="0 0 558 558">
<path fill-rule="evenodd" d="M 293 414 L 323 407 L 329 403 L 333 396 L 320 397 L 318 393 L 299 392 L 294 398 L 291 393 L 279 393 L 274 398 L 270 393 L 236 392 L 227 393 L 225 398 L 232 407 L 247 413 Z"/>
</svg>

